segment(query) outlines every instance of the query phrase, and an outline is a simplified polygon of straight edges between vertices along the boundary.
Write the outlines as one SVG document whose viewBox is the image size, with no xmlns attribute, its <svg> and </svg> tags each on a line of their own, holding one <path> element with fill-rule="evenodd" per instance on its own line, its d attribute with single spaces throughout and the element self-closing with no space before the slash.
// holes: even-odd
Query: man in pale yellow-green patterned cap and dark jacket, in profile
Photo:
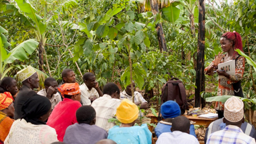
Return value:
<svg viewBox="0 0 256 144">
<path fill-rule="evenodd" d="M 17 72 L 17 77 L 23 85 L 19 93 L 17 94 L 17 97 L 15 98 L 15 120 L 21 118 L 23 114 L 23 112 L 21 111 L 21 106 L 28 98 L 36 94 L 36 92 L 34 92 L 33 89 L 39 87 L 39 78 L 36 73 L 36 70 L 34 70 L 32 66 L 28 66 L 27 68 L 24 68 L 23 70 Z"/>
</svg>

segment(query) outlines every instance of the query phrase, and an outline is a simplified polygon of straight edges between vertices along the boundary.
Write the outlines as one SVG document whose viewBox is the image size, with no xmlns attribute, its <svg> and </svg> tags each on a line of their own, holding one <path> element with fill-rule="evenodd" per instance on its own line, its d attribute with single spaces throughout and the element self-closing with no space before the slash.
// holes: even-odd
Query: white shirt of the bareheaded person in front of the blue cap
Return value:
<svg viewBox="0 0 256 144">
<path fill-rule="evenodd" d="M 173 131 L 173 133 L 162 133 L 156 144 L 199 144 L 199 142 L 193 135 Z"/>
</svg>

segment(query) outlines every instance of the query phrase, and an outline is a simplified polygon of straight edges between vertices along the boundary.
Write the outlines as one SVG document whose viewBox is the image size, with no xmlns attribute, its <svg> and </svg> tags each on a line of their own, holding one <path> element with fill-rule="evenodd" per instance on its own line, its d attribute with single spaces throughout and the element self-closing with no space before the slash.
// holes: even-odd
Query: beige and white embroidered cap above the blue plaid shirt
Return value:
<svg viewBox="0 0 256 144">
<path fill-rule="evenodd" d="M 241 121 L 244 117 L 244 103 L 237 97 L 230 97 L 224 104 L 224 117 L 230 122 Z"/>
</svg>

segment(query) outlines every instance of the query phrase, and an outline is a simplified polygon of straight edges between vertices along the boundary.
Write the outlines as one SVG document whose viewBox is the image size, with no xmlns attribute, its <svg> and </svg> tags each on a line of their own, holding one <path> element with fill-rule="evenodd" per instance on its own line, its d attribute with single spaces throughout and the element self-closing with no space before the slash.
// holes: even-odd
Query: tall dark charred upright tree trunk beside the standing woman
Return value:
<svg viewBox="0 0 256 144">
<path fill-rule="evenodd" d="M 205 100 L 201 98 L 200 93 L 205 91 L 205 0 L 199 0 L 199 31 L 197 40 L 197 65 L 195 86 L 195 107 L 203 108 Z"/>
</svg>

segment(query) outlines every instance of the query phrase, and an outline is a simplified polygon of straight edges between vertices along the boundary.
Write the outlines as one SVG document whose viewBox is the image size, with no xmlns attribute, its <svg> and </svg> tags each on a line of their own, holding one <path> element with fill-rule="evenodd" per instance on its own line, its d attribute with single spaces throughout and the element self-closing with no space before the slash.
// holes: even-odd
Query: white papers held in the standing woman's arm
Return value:
<svg viewBox="0 0 256 144">
<path fill-rule="evenodd" d="M 223 68 L 228 74 L 235 75 L 235 60 L 230 60 L 225 63 L 218 64 L 218 70 L 221 71 Z M 225 76 L 219 76 L 219 79 L 225 78 Z"/>
</svg>

